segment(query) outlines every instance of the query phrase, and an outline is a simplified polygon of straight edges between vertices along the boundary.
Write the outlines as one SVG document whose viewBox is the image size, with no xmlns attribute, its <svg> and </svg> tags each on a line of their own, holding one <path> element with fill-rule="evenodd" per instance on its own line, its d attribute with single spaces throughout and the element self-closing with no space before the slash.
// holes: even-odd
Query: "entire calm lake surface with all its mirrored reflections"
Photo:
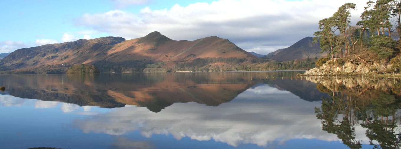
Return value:
<svg viewBox="0 0 401 149">
<path fill-rule="evenodd" d="M 400 148 L 399 79 L 0 75 L 0 148 Z"/>
</svg>

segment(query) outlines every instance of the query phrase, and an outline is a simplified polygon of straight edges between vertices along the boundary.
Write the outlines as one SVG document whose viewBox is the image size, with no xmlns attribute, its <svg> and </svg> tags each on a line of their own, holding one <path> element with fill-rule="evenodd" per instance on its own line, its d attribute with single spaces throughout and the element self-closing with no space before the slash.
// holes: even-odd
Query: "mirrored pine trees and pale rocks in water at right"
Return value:
<svg viewBox="0 0 401 149">
<path fill-rule="evenodd" d="M 322 129 L 337 135 L 351 149 L 360 149 L 355 128 L 366 129 L 365 135 L 374 148 L 399 149 L 401 84 L 388 79 L 311 79 L 316 88 L 330 97 L 315 107 Z"/>
</svg>

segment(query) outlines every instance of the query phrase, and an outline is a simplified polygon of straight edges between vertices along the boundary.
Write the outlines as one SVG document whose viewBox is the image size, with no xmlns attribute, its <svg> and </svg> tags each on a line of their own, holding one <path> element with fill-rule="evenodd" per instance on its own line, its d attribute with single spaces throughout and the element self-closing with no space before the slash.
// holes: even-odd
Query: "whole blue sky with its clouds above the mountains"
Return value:
<svg viewBox="0 0 401 149">
<path fill-rule="evenodd" d="M 0 53 L 104 36 L 158 31 L 173 40 L 207 36 L 268 54 L 313 36 L 347 2 L 351 24 L 368 0 L 0 0 Z"/>
</svg>

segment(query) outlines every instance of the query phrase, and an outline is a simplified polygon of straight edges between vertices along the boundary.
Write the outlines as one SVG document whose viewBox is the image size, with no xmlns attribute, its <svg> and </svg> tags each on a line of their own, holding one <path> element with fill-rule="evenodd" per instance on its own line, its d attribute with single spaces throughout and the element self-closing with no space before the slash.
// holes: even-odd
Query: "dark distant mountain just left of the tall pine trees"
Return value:
<svg viewBox="0 0 401 149">
<path fill-rule="evenodd" d="M 266 58 L 288 61 L 295 59 L 305 58 L 319 58 L 327 55 L 327 52 L 320 53 L 320 45 L 318 43 L 312 43 L 312 37 L 306 37 L 288 48 L 278 49 L 266 55 Z"/>
</svg>

